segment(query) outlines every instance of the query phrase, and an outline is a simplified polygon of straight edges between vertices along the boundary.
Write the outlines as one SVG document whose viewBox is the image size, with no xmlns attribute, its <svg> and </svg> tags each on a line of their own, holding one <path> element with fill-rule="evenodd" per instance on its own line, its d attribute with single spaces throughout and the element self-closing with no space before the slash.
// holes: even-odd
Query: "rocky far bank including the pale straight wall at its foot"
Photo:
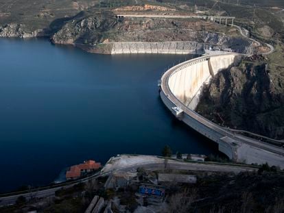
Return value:
<svg viewBox="0 0 284 213">
<path fill-rule="evenodd" d="M 251 54 L 255 44 L 241 36 L 225 35 L 216 29 L 228 28 L 204 20 L 171 18 L 126 18 L 117 20 L 113 12 L 80 12 L 56 21 L 47 29 L 29 29 L 25 24 L 8 23 L 0 27 L 0 37 L 47 37 L 54 44 L 74 45 L 84 51 L 121 53 L 204 53 L 206 48 L 229 49 Z M 230 29 L 234 34 L 237 29 Z"/>
</svg>

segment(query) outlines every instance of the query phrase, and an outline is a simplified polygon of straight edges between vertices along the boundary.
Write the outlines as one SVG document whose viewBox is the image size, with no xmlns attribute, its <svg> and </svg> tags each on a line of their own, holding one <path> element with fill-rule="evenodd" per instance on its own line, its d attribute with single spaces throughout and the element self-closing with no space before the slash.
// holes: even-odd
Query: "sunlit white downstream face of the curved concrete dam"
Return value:
<svg viewBox="0 0 284 213">
<path fill-rule="evenodd" d="M 208 83 L 216 73 L 241 60 L 237 54 L 204 57 L 182 64 L 169 77 L 172 94 L 189 109 L 195 110 L 200 99 L 202 85 Z"/>
</svg>

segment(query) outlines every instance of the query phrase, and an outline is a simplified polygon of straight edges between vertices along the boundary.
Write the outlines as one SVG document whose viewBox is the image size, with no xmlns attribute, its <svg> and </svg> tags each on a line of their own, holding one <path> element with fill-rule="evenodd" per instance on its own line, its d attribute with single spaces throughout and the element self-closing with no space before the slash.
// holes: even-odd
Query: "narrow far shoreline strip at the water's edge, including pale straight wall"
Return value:
<svg viewBox="0 0 284 213">
<path fill-rule="evenodd" d="M 94 45 L 75 43 L 75 42 L 54 42 L 51 35 L 32 36 L 22 38 L 19 36 L 0 36 L 5 39 L 45 39 L 52 45 L 71 46 L 82 49 L 88 53 L 102 54 L 102 55 L 123 55 L 123 54 L 169 54 L 169 55 L 202 55 L 209 49 L 213 51 L 228 51 L 237 52 L 224 45 L 215 45 L 196 41 L 163 41 L 163 42 L 102 42 Z M 246 53 L 244 53 L 246 54 Z"/>
</svg>

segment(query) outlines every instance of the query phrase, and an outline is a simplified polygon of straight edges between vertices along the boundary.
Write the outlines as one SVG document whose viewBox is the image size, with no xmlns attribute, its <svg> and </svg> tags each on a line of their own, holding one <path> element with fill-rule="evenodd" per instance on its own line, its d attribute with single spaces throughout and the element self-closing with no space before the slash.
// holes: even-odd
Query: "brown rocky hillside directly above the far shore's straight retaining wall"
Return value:
<svg viewBox="0 0 284 213">
<path fill-rule="evenodd" d="M 199 19 L 115 18 L 112 12 L 84 13 L 64 23 L 51 40 L 58 44 L 93 45 L 110 42 L 193 41 L 252 53 L 253 44 L 246 38 L 226 36 L 217 29 L 225 26 Z"/>
</svg>

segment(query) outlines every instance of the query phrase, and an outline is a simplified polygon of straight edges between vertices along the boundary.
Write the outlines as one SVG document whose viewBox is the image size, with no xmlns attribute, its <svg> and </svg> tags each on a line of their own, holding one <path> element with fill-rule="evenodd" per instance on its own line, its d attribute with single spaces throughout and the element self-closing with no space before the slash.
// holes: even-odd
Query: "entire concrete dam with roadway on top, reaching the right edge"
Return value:
<svg viewBox="0 0 284 213">
<path fill-rule="evenodd" d="M 268 162 L 284 168 L 283 147 L 236 134 L 194 111 L 200 100 L 202 86 L 216 73 L 239 64 L 240 60 L 241 55 L 226 53 L 202 56 L 169 68 L 159 83 L 161 99 L 180 121 L 217 142 L 219 150 L 228 158 L 247 164 Z"/>
</svg>

